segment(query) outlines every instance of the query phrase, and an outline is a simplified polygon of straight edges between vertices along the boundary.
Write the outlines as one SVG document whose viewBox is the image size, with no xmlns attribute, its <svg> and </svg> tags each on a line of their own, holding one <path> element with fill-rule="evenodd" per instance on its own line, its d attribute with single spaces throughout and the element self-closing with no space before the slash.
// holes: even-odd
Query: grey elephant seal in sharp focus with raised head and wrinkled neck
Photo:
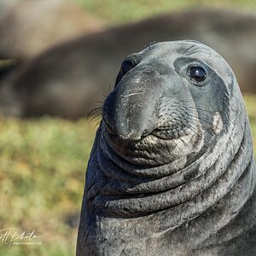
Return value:
<svg viewBox="0 0 256 256">
<path fill-rule="evenodd" d="M 188 40 L 128 56 L 85 184 L 77 255 L 255 255 L 252 137 L 227 62 Z"/>
</svg>

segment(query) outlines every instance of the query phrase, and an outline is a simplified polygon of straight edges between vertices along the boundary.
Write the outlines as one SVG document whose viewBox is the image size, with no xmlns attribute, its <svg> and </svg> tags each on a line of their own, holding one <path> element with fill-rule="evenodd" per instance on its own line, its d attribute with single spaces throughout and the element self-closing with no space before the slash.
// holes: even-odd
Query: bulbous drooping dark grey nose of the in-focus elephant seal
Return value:
<svg viewBox="0 0 256 256">
<path fill-rule="evenodd" d="M 138 141 L 154 131 L 157 123 L 158 86 L 151 74 L 131 70 L 104 102 L 102 113 L 113 134 Z M 152 91 L 154 90 L 154 93 Z"/>
</svg>

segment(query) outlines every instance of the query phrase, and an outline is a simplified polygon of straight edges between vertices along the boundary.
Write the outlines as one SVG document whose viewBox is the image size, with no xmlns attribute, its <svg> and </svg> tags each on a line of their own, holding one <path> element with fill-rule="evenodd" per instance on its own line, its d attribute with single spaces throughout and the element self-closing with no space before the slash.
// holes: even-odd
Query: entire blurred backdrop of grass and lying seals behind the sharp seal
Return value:
<svg viewBox="0 0 256 256">
<path fill-rule="evenodd" d="M 0 255 L 75 254 L 97 125 L 87 114 L 126 55 L 177 39 L 230 63 L 256 148 L 256 1 L 0 0 Z M 43 237 L 9 247 L 9 228 Z"/>
</svg>

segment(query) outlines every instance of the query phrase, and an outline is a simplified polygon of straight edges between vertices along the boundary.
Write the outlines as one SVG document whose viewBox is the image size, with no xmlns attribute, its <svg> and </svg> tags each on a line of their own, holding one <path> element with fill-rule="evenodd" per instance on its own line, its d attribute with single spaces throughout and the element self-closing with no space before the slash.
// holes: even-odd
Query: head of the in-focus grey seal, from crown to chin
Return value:
<svg viewBox="0 0 256 256">
<path fill-rule="evenodd" d="M 206 44 L 150 45 L 123 61 L 103 106 L 102 131 L 132 163 L 184 162 L 227 130 L 233 82 L 228 64 Z"/>
</svg>

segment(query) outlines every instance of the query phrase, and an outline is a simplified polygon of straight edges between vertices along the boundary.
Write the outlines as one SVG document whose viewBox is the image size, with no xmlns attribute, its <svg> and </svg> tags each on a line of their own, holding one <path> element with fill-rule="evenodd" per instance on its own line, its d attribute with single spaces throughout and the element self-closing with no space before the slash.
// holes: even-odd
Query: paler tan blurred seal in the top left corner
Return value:
<svg viewBox="0 0 256 256">
<path fill-rule="evenodd" d="M 29 58 L 102 25 L 67 0 L 1 0 L 0 57 Z"/>
</svg>

